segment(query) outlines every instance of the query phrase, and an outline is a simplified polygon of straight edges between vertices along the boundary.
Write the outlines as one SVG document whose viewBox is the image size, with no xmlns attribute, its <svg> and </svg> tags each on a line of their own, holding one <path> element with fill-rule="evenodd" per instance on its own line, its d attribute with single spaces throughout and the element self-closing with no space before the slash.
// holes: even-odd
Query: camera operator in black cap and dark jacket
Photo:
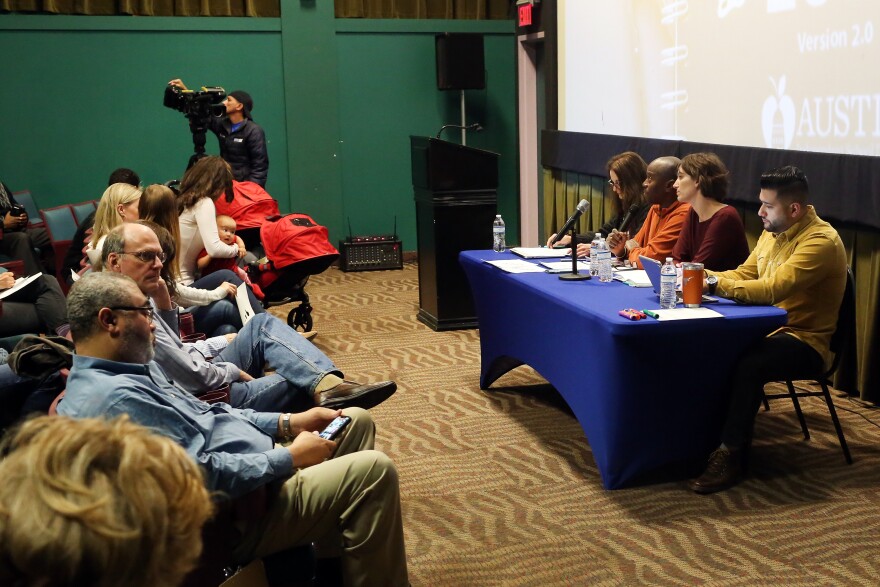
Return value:
<svg viewBox="0 0 880 587">
<path fill-rule="evenodd" d="M 179 79 L 171 80 L 168 85 L 187 89 Z M 251 118 L 253 100 L 247 92 L 236 90 L 230 92 L 223 103 L 226 116 L 209 119 L 209 128 L 220 142 L 220 156 L 232 167 L 236 181 L 252 181 L 266 187 L 269 173 L 266 135 Z"/>
</svg>

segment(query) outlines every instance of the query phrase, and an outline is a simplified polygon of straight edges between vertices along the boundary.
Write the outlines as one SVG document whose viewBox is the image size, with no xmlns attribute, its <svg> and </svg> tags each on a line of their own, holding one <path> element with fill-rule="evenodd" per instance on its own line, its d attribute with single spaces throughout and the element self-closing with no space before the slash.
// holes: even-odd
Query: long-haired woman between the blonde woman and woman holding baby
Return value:
<svg viewBox="0 0 880 587">
<path fill-rule="evenodd" d="M 192 314 L 196 331 L 207 336 L 237 332 L 242 325 L 235 304 L 236 288 L 241 283 L 237 275 L 229 270 L 223 271 L 221 278 L 224 281 L 213 289 L 184 285 L 181 281 L 177 259 L 180 246 L 177 196 L 171 188 L 158 184 L 147 186 L 138 213 L 159 237 L 159 244 L 166 256 L 162 263 L 162 278 L 168 285 L 172 299 Z M 156 230 L 155 226 L 160 229 Z"/>
</svg>

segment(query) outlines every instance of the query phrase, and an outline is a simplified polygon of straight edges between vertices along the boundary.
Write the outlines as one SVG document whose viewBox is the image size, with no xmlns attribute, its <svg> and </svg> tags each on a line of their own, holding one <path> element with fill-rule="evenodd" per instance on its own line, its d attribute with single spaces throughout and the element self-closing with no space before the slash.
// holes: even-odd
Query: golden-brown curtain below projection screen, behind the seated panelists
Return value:
<svg viewBox="0 0 880 587">
<path fill-rule="evenodd" d="M 614 215 L 606 178 L 560 169 L 544 169 L 544 233 L 546 239 L 565 222 L 577 203 L 587 198 L 590 213 L 580 220 L 579 232 L 594 230 Z M 754 207 L 736 204 L 743 217 L 749 245 L 754 247 L 762 225 Z M 819 215 L 822 211 L 818 210 Z M 834 224 L 832 222 L 832 224 Z M 855 276 L 856 332 L 854 352 L 841 356 L 835 389 L 858 392 L 861 399 L 880 404 L 880 232 L 840 228 L 849 265 Z"/>
</svg>

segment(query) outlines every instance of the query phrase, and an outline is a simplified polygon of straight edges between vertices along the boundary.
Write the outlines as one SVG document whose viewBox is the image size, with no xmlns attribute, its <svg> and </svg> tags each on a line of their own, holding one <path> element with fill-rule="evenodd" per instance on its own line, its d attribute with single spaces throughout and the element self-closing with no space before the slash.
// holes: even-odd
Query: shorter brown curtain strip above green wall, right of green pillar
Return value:
<svg viewBox="0 0 880 587">
<path fill-rule="evenodd" d="M 336 18 L 513 18 L 513 0 L 336 0 Z"/>
</svg>

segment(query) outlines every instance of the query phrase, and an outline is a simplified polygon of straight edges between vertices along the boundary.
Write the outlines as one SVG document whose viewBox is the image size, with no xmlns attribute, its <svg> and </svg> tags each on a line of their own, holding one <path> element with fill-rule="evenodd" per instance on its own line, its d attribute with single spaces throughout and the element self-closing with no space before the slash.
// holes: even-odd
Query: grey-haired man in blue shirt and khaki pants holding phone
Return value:
<svg viewBox="0 0 880 587">
<path fill-rule="evenodd" d="M 201 402 L 151 360 L 151 310 L 123 275 L 93 273 L 74 284 L 68 315 L 76 355 L 59 414 L 129 414 L 179 443 L 211 491 L 237 498 L 265 488 L 265 513 L 240 524 L 239 563 L 313 543 L 318 557 L 341 557 L 346 585 L 407 585 L 397 471 L 372 450 L 369 412 L 263 413 Z M 352 420 L 338 442 L 315 434 L 341 413 Z M 291 442 L 276 445 L 283 440 Z"/>
</svg>

